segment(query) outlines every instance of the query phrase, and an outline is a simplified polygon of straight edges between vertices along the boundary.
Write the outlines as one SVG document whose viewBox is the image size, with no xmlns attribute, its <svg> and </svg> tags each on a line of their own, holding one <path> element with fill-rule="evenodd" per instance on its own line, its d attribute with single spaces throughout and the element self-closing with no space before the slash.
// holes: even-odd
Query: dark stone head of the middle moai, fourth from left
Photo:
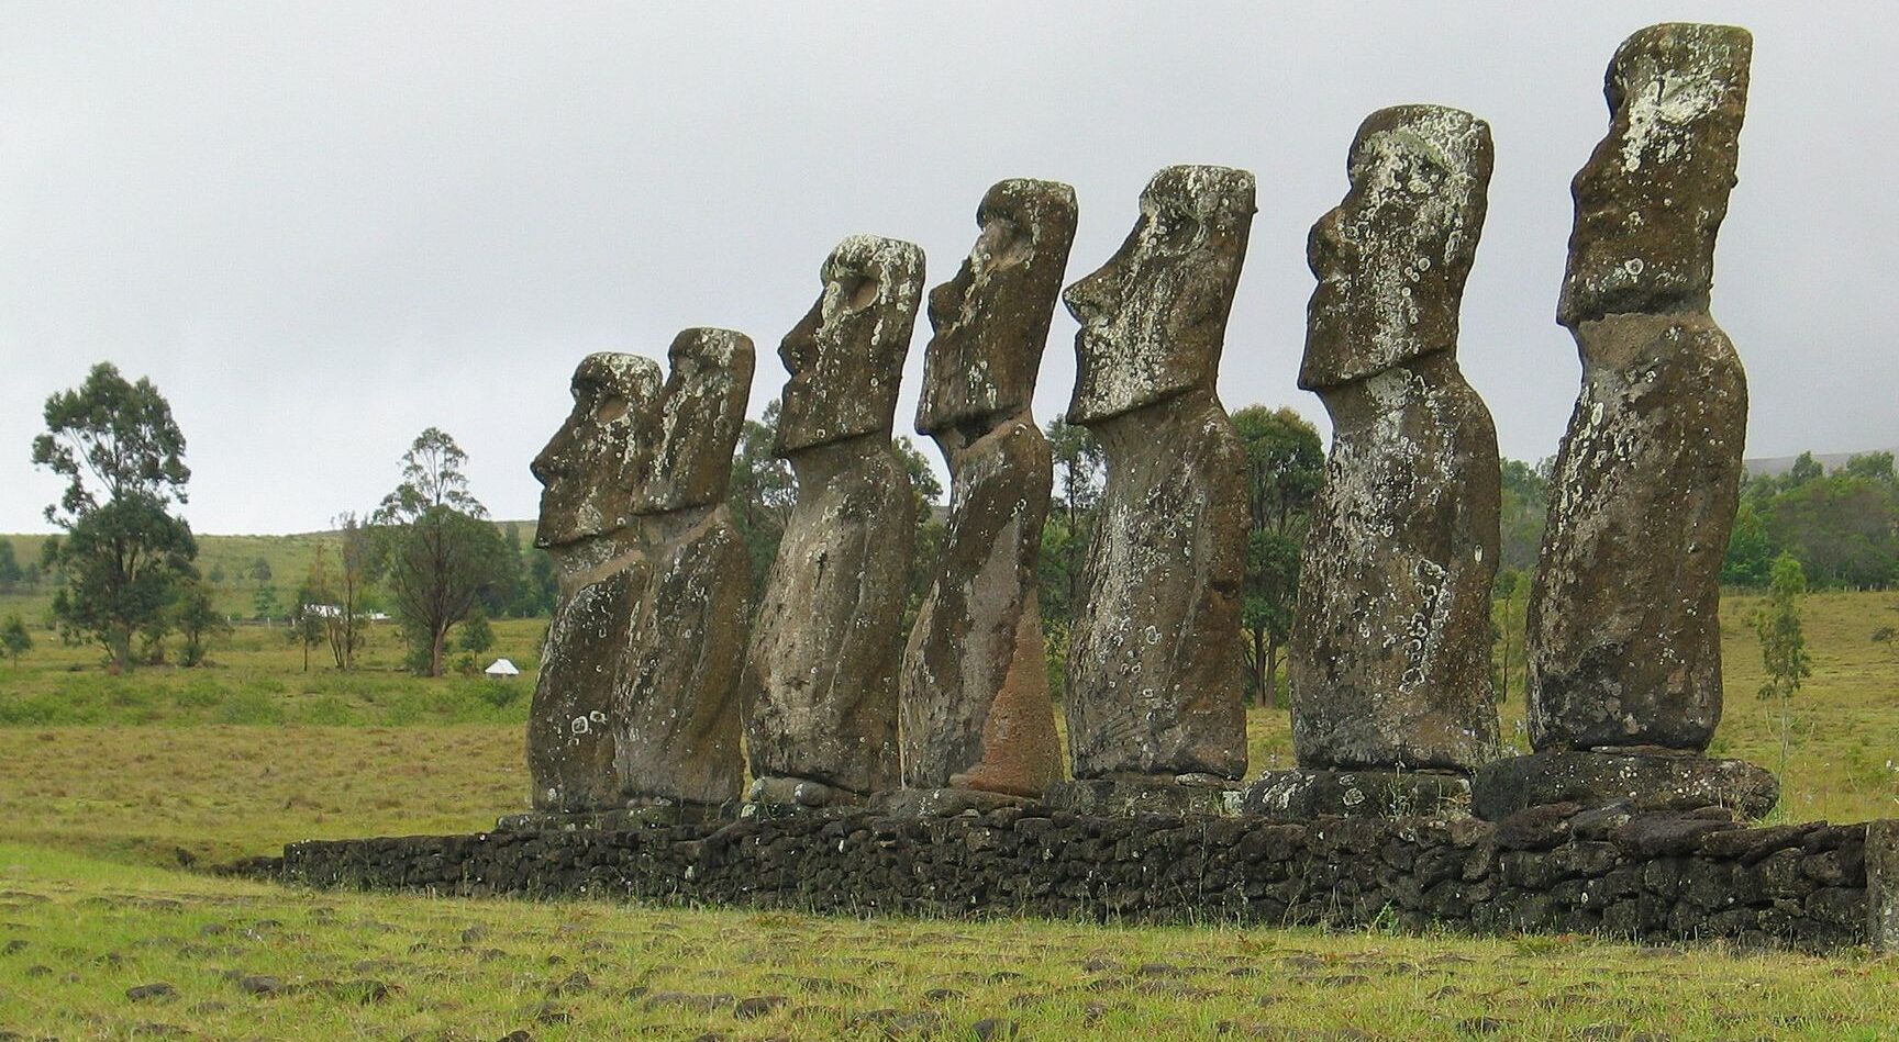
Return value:
<svg viewBox="0 0 1899 1042">
<path fill-rule="evenodd" d="M 997 182 L 976 207 L 976 228 L 963 268 L 931 290 L 921 435 L 1029 408 L 1075 243 L 1075 190 L 1054 180 Z"/>
</svg>

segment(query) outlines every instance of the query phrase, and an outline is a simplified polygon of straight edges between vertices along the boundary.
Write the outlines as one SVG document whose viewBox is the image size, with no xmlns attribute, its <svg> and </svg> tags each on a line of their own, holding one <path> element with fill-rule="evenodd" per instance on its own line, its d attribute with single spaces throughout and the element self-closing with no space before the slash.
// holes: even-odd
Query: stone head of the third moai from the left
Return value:
<svg viewBox="0 0 1899 1042">
<path fill-rule="evenodd" d="M 923 296 L 923 251 L 851 235 L 824 260 L 824 292 L 779 359 L 792 378 L 779 402 L 779 454 L 889 435 L 910 330 Z"/>
</svg>

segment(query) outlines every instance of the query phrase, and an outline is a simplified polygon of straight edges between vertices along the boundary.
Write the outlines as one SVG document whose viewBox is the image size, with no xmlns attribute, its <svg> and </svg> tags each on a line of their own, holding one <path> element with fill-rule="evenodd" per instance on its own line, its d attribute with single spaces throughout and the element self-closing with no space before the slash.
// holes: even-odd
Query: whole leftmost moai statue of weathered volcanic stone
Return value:
<svg viewBox="0 0 1899 1042">
<path fill-rule="evenodd" d="M 627 626 L 648 581 L 632 493 L 659 387 L 649 359 L 589 355 L 573 370 L 573 412 L 534 459 L 543 486 L 536 545 L 560 569 L 528 712 L 536 810 L 619 807 L 610 714 Z"/>
</svg>

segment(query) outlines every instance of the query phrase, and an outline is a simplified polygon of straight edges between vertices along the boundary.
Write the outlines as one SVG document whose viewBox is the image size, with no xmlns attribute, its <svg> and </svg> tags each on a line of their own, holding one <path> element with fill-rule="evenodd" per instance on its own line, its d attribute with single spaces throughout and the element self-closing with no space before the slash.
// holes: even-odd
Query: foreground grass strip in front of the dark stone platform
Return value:
<svg viewBox="0 0 1899 1042">
<path fill-rule="evenodd" d="M 152 983 L 173 995 L 127 998 Z M 737 1015 L 767 996 L 782 1004 Z M 1658 1027 L 1871 1040 L 1899 1025 L 1899 964 L 1586 938 L 387 898 L 0 845 L 0 1027 L 28 1036 L 919 1038 L 902 1025 L 934 1023 L 938 1038 L 974 1038 L 991 1017 L 1016 1021 L 1020 1038 L 1624 1038 Z"/>
</svg>

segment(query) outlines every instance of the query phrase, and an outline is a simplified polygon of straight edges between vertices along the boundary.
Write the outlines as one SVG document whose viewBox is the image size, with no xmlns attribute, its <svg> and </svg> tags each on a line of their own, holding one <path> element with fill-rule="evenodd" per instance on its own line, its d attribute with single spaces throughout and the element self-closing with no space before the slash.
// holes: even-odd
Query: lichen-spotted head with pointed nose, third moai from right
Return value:
<svg viewBox="0 0 1899 1042">
<path fill-rule="evenodd" d="M 1246 171 L 1168 167 L 1147 182 L 1120 251 L 1062 294 L 1081 323 L 1071 423 L 1213 387 L 1251 224 Z"/>
</svg>

